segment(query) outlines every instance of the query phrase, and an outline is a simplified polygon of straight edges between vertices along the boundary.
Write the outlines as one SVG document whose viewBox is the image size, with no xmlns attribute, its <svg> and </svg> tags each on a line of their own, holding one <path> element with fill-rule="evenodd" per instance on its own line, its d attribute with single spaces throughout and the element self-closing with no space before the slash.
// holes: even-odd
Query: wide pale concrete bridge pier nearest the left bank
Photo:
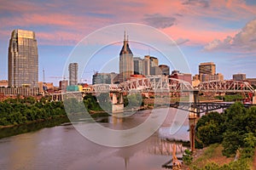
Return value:
<svg viewBox="0 0 256 170">
<path fill-rule="evenodd" d="M 122 93 L 112 93 L 112 113 L 124 112 L 124 97 Z"/>
</svg>

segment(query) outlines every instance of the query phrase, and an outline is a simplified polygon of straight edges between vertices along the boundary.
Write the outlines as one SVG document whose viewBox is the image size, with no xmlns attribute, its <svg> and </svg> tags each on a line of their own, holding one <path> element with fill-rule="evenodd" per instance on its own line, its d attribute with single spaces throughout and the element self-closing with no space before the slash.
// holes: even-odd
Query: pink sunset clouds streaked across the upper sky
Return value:
<svg viewBox="0 0 256 170">
<path fill-rule="evenodd" d="M 208 6 L 183 4 L 183 2 L 185 1 L 143 0 L 138 3 L 136 0 L 130 2 L 114 0 L 112 3 L 96 1 L 88 6 L 88 2 L 85 1 L 72 3 L 58 0 L 55 3 L 3 1 L 0 11 L 9 11 L 14 16 L 11 20 L 9 17 L 0 16 L 0 22 L 4 23 L 0 27 L 4 30 L 5 27 L 49 26 L 49 31 L 41 31 L 38 28 L 38 37 L 43 38 L 41 42 L 53 43 L 53 39 L 47 38 L 55 38 L 58 43 L 73 43 L 91 31 L 115 23 L 151 23 L 151 26 L 154 26 L 154 17 L 153 20 L 150 19 L 151 22 L 145 20 L 148 14 L 163 19 L 162 22 L 158 22 L 158 26 L 166 27 L 161 30 L 174 39 L 189 39 L 186 44 L 204 44 L 214 38 L 224 39 L 226 35 L 235 36 L 237 30 L 217 26 L 210 21 L 201 20 L 202 18 L 211 16 L 219 20 L 248 20 L 256 14 L 255 6 L 248 6 L 243 0 L 214 0 Z M 97 17 L 97 14 L 100 17 Z M 107 15 L 104 17 L 104 14 Z M 112 17 L 108 17 L 108 14 Z M 175 22 L 170 23 L 171 21 Z M 65 37 L 62 37 L 62 34 Z"/>
</svg>

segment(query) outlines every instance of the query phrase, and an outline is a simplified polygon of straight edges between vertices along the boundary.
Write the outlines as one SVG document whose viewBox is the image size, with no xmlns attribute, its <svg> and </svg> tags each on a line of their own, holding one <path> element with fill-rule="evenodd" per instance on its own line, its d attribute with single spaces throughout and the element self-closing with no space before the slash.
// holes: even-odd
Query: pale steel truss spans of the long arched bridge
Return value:
<svg viewBox="0 0 256 170">
<path fill-rule="evenodd" d="M 254 88 L 248 82 L 239 81 L 211 81 L 201 82 L 192 87 L 189 82 L 168 77 L 143 77 L 128 80 L 120 84 L 95 84 L 96 93 L 104 92 L 170 92 L 183 93 L 200 91 L 204 93 L 253 93 Z"/>
</svg>

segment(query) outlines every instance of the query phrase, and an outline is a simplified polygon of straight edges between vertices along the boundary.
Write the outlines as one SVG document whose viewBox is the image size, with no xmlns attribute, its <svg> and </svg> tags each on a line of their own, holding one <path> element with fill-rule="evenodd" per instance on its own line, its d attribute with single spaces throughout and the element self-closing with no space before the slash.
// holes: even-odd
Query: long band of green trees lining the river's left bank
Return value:
<svg viewBox="0 0 256 170">
<path fill-rule="evenodd" d="M 75 98 L 61 101 L 49 102 L 49 99 L 42 98 L 40 101 L 32 97 L 25 99 L 6 99 L 0 102 L 0 127 L 26 124 L 52 119 L 68 114 L 76 114 L 87 111 L 108 111 L 111 103 L 106 94 L 101 94 L 96 98 L 88 94 L 84 100 L 78 101 Z M 97 102 L 99 100 L 99 102 Z M 65 106 L 65 107 L 64 107 Z M 84 108 L 85 106 L 85 108 Z M 98 116 L 98 114 L 97 114 Z M 102 113 L 102 116 L 106 114 Z"/>
</svg>

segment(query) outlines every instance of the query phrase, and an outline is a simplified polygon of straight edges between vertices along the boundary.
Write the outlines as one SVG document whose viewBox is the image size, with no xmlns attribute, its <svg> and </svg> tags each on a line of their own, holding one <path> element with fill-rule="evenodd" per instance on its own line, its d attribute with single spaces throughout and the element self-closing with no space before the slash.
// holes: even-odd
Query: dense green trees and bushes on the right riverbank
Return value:
<svg viewBox="0 0 256 170">
<path fill-rule="evenodd" d="M 202 116 L 195 127 L 196 138 L 204 146 L 222 144 L 224 156 L 238 156 L 239 159 L 224 166 L 211 162 L 194 169 L 249 169 L 256 147 L 255 122 L 256 107 L 246 109 L 241 103 L 231 105 L 223 114 L 211 112 Z"/>
</svg>

